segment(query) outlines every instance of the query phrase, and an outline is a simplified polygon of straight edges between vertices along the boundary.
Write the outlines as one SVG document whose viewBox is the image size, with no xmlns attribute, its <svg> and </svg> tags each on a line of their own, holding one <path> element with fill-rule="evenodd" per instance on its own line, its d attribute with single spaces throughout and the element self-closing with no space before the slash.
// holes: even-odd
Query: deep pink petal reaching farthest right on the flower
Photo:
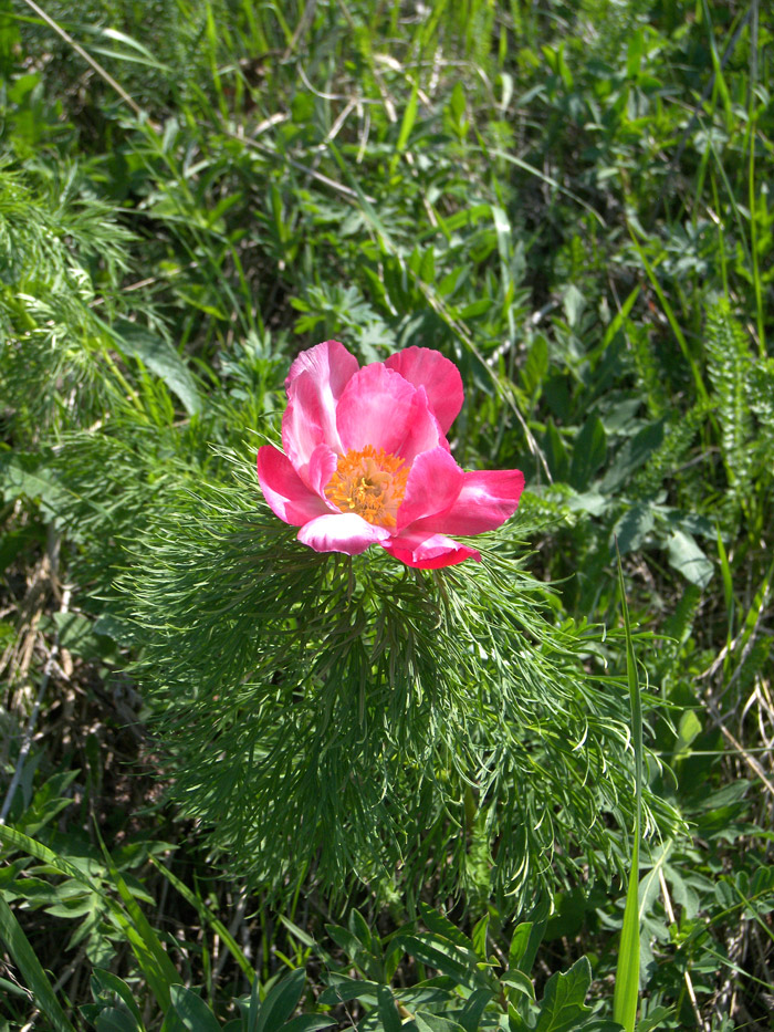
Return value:
<svg viewBox="0 0 774 1032">
<path fill-rule="evenodd" d="M 481 534 L 488 530 L 496 530 L 516 511 L 524 490 L 524 473 L 521 470 L 481 469 L 464 472 L 462 477 L 460 493 L 449 509 L 420 519 L 414 523 L 411 530 L 426 533 Z M 402 517 L 402 505 L 399 513 Z"/>
</svg>

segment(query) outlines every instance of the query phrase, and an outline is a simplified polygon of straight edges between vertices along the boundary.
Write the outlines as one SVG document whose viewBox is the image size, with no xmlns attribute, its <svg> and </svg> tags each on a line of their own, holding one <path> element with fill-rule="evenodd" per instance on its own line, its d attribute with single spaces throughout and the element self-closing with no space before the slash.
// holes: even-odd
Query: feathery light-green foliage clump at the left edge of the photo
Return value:
<svg viewBox="0 0 774 1032">
<path fill-rule="evenodd" d="M 0 395 L 18 444 L 93 423 L 130 394 L 111 330 L 127 307 L 130 236 L 81 186 L 77 168 L 0 168 Z"/>
</svg>

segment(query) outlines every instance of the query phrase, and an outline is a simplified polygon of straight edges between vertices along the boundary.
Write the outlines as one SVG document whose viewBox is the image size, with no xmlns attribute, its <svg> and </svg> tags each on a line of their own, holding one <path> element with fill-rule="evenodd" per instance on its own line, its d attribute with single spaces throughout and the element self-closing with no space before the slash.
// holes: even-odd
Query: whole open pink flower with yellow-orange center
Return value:
<svg viewBox="0 0 774 1032">
<path fill-rule="evenodd" d="M 269 505 L 317 552 L 372 544 L 421 570 L 481 561 L 447 534 L 494 530 L 516 510 L 517 469 L 466 472 L 446 434 L 462 378 L 437 351 L 407 347 L 359 368 L 338 341 L 302 352 L 285 381 L 284 455 L 259 449 Z"/>
</svg>

